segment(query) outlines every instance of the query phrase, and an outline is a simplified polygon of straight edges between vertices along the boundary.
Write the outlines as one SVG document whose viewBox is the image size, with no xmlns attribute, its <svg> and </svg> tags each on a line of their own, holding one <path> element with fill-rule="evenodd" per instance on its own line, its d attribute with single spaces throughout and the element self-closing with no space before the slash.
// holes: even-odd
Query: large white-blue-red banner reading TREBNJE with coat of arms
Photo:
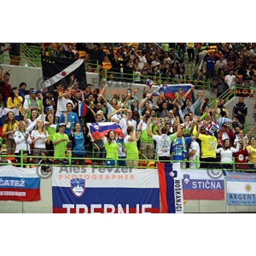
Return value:
<svg viewBox="0 0 256 256">
<path fill-rule="evenodd" d="M 157 171 L 124 169 L 53 167 L 53 213 L 159 213 Z"/>
</svg>

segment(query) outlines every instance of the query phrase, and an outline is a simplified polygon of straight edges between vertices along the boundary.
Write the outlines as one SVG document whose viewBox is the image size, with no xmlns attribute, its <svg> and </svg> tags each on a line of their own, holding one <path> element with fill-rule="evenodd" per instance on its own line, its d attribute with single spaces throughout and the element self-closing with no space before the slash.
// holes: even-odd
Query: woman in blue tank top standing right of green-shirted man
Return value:
<svg viewBox="0 0 256 256">
<path fill-rule="evenodd" d="M 79 122 L 76 122 L 74 130 L 73 132 L 73 129 L 71 129 L 72 157 L 85 157 L 87 136 L 81 132 L 81 124 Z M 84 165 L 84 159 L 78 159 L 78 163 L 79 165 Z"/>
</svg>

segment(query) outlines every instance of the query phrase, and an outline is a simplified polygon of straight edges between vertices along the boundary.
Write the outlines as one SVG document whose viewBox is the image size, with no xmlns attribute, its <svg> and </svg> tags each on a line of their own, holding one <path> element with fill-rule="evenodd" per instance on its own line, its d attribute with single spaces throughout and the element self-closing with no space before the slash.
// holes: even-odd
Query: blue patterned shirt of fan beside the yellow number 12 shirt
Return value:
<svg viewBox="0 0 256 256">
<path fill-rule="evenodd" d="M 172 160 L 184 160 L 186 159 L 186 147 L 192 142 L 192 137 L 176 138 L 172 142 Z M 183 145 L 185 143 L 185 145 Z M 185 146 L 185 148 L 184 148 Z"/>
</svg>

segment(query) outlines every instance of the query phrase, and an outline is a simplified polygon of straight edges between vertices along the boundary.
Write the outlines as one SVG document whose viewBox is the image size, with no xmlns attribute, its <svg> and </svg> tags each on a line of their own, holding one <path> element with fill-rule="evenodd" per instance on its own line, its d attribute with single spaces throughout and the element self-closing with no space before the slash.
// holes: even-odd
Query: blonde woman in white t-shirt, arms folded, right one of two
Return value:
<svg viewBox="0 0 256 256">
<path fill-rule="evenodd" d="M 45 130 L 45 125 L 42 119 L 36 122 L 35 130 L 31 133 L 32 143 L 34 144 L 32 155 L 41 156 L 41 151 L 46 148 L 46 143 L 49 143 L 49 134 Z M 39 163 L 39 158 L 33 158 L 33 163 Z"/>
</svg>

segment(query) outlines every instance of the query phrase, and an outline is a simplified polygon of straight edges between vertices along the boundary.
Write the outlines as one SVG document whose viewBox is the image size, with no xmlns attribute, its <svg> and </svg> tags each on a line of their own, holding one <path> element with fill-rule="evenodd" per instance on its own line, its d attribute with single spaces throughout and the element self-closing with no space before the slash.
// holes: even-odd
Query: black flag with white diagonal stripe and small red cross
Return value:
<svg viewBox="0 0 256 256">
<path fill-rule="evenodd" d="M 84 59 L 58 58 L 52 56 L 41 56 L 44 88 L 55 87 L 61 83 L 64 87 L 70 84 L 70 76 L 74 76 L 79 82 L 79 88 L 84 89 L 87 85 Z M 39 89 L 39 88 L 37 88 Z M 41 90 L 42 88 L 40 88 Z"/>
</svg>

